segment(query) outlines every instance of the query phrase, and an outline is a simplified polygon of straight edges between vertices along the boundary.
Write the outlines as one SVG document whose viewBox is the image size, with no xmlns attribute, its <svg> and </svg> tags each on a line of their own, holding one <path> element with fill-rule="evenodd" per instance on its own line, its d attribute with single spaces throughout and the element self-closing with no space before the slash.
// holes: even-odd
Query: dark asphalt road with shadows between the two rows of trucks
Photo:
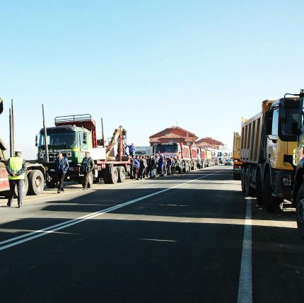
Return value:
<svg viewBox="0 0 304 303">
<path fill-rule="evenodd" d="M 304 302 L 293 210 L 232 169 L 0 199 L 1 302 Z"/>
</svg>

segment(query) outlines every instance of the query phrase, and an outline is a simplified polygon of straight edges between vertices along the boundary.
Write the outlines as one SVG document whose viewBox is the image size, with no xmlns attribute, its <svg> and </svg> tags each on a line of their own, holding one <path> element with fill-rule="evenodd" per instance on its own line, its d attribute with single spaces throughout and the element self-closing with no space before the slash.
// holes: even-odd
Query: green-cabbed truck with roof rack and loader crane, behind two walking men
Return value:
<svg viewBox="0 0 304 303">
<path fill-rule="evenodd" d="M 105 145 L 105 139 L 97 139 L 96 123 L 90 114 L 59 116 L 54 119 L 54 127 L 47 127 L 47 149 L 45 147 L 45 129 L 36 136 L 37 159 L 45 161 L 48 150 L 49 161 L 45 164 L 47 171 L 46 185 L 57 185 L 54 160 L 59 151 L 69 161 L 66 180 L 84 183 L 81 174 L 81 162 L 86 151 L 90 152 L 95 168 L 90 175 L 89 185 L 102 179 L 105 183 L 124 182 L 130 171 L 129 156 L 124 155 L 127 131 L 122 126 L 115 129 L 111 139 Z"/>
</svg>

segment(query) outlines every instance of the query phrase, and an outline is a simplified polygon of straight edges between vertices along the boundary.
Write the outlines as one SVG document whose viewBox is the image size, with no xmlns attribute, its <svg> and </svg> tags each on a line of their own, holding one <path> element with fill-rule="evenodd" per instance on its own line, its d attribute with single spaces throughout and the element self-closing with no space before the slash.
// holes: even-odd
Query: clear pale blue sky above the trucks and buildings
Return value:
<svg viewBox="0 0 304 303">
<path fill-rule="evenodd" d="M 35 134 L 90 113 L 128 142 L 172 125 L 232 145 L 241 117 L 304 88 L 304 1 L 0 0 L 0 137 L 35 159 Z"/>
</svg>

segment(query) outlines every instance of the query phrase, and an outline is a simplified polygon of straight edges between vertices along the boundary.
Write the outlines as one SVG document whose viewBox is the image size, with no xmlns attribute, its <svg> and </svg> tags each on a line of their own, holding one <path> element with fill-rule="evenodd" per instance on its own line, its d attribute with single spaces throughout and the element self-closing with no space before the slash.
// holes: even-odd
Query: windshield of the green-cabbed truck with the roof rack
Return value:
<svg viewBox="0 0 304 303">
<path fill-rule="evenodd" d="M 76 145 L 76 132 L 54 132 L 47 134 L 47 144 L 52 147 L 66 145 L 74 147 Z M 45 146 L 45 135 L 40 134 L 39 147 Z"/>
</svg>

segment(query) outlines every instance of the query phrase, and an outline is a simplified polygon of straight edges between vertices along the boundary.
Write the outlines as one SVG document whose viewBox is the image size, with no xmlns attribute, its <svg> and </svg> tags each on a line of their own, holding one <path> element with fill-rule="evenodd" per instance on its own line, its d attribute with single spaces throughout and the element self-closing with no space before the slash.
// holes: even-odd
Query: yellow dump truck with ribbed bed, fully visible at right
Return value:
<svg viewBox="0 0 304 303">
<path fill-rule="evenodd" d="M 265 100 L 260 113 L 242 122 L 242 191 L 256 195 L 257 202 L 272 212 L 292 198 L 299 107 L 298 97 Z"/>
</svg>

